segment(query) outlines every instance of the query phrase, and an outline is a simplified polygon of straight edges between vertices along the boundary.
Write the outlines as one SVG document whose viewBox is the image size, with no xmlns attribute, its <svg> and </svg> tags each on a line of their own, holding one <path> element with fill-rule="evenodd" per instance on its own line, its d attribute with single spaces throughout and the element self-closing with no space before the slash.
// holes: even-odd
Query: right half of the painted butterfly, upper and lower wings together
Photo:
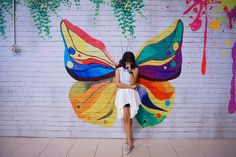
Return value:
<svg viewBox="0 0 236 157">
<path fill-rule="evenodd" d="M 161 35 L 144 43 L 136 54 L 142 102 L 136 119 L 141 127 L 160 124 L 173 108 L 175 88 L 168 80 L 181 73 L 182 38 L 183 23 L 178 20 Z"/>
</svg>

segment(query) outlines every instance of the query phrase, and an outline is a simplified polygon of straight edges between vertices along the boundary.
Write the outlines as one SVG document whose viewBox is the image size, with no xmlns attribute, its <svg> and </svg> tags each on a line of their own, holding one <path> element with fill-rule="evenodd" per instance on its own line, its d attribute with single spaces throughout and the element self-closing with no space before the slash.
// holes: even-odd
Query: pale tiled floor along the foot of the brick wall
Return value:
<svg viewBox="0 0 236 157">
<path fill-rule="evenodd" d="M 0 137 L 0 157 L 236 157 L 236 139 L 123 139 Z"/>
</svg>

